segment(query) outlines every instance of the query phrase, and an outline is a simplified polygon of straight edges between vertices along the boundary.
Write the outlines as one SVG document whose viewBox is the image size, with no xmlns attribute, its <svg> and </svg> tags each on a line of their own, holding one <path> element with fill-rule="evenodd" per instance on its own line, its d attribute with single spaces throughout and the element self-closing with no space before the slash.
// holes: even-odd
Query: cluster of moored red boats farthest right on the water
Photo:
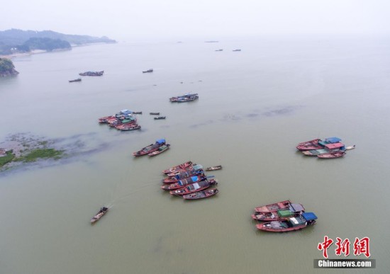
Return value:
<svg viewBox="0 0 390 274">
<path fill-rule="evenodd" d="M 329 137 L 325 139 L 313 139 L 311 141 L 301 142 L 296 146 L 306 156 L 317 156 L 320 159 L 339 158 L 347 154 L 347 150 L 355 149 L 355 145 L 345 147 L 338 137 Z"/>
</svg>

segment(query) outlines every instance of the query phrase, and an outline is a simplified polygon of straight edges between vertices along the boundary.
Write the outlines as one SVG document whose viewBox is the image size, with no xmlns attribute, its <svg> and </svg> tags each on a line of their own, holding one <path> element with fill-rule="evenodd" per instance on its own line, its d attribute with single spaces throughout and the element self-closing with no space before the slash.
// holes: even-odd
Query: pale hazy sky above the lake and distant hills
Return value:
<svg viewBox="0 0 390 274">
<path fill-rule="evenodd" d="M 390 0 L 9 0 L 0 30 L 143 38 L 390 34 Z"/>
</svg>

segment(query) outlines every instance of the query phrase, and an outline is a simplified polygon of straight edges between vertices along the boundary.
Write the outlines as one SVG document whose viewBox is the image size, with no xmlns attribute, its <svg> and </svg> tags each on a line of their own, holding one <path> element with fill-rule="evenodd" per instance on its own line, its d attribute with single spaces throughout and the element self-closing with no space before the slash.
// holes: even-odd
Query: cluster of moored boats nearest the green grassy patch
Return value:
<svg viewBox="0 0 390 274">
<path fill-rule="evenodd" d="M 99 118 L 99 123 L 107 124 L 109 127 L 114 127 L 117 130 L 139 130 L 141 128 L 137 123 L 137 118 L 130 110 L 121 110 L 114 115 Z"/>
</svg>

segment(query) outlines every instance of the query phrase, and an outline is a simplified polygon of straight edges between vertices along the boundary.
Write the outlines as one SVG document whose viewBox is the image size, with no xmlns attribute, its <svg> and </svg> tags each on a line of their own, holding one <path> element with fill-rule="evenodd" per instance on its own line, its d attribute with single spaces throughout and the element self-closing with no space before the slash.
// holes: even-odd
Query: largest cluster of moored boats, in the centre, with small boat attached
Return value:
<svg viewBox="0 0 390 274">
<path fill-rule="evenodd" d="M 212 166 L 205 170 L 218 169 L 222 169 L 222 166 Z M 193 164 L 192 161 L 173 166 L 162 173 L 167 177 L 162 180 L 161 188 L 168 190 L 171 195 L 182 197 L 185 200 L 209 198 L 219 191 L 218 188 L 211 188 L 211 186 L 218 184 L 214 179 L 209 180 L 213 176 L 206 176 L 203 166 Z"/>
</svg>

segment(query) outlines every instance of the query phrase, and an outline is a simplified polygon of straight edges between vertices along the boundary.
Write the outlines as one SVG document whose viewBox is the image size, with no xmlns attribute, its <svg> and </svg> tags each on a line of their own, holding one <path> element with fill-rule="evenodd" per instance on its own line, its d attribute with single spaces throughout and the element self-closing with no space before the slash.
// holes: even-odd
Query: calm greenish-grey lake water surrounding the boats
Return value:
<svg viewBox="0 0 390 274">
<path fill-rule="evenodd" d="M 351 273 L 313 269 L 325 235 L 368 236 L 372 272 L 388 273 L 389 46 L 128 42 L 13 59 L 20 74 L 0 79 L 0 140 L 28 132 L 74 153 L 1 173 L 0 273 Z M 105 73 L 68 82 L 89 70 Z M 199 100 L 168 101 L 188 92 Z M 123 108 L 143 111 L 142 130 L 98 124 Z M 296 152 L 298 142 L 333 136 L 356 149 L 333 160 Z M 160 138 L 171 144 L 164 154 L 132 156 Z M 161 171 L 188 160 L 223 165 L 206 173 L 218 195 L 184 201 L 160 189 Z M 257 231 L 254 207 L 286 199 L 315 212 L 317 224 Z M 103 205 L 111 210 L 91 226 Z M 347 258 L 365 258 L 350 249 Z M 334 250 L 330 258 L 340 258 Z"/>
</svg>

